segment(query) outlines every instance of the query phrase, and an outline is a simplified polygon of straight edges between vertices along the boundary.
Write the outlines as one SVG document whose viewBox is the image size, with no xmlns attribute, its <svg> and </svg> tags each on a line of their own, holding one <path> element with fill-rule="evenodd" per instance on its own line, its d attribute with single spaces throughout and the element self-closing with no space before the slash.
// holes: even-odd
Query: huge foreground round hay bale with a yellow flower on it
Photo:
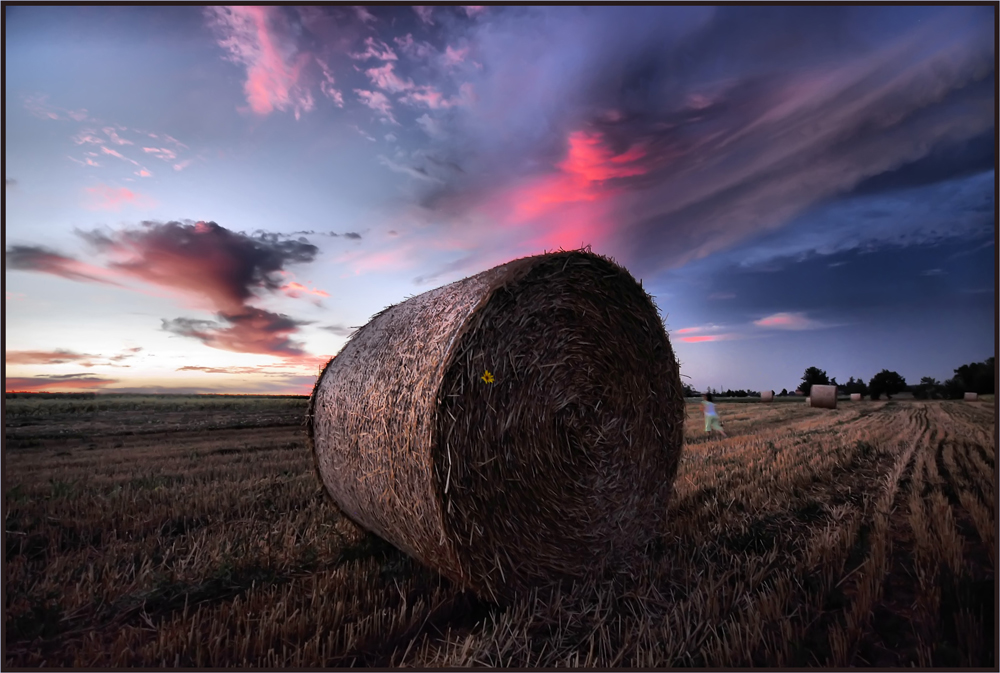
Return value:
<svg viewBox="0 0 1000 673">
<path fill-rule="evenodd" d="M 378 313 L 320 375 L 307 426 L 347 516 L 499 599 L 627 570 L 662 531 L 684 414 L 652 298 L 588 250 Z"/>
</svg>

